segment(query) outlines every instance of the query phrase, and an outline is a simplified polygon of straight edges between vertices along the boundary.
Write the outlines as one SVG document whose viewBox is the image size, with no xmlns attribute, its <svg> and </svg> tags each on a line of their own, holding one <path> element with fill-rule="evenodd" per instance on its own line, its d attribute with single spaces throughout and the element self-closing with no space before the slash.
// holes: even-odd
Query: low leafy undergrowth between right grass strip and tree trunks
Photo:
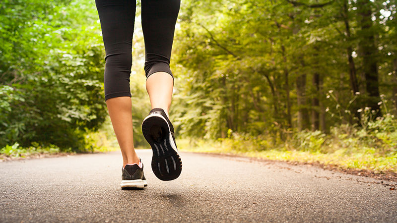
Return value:
<svg viewBox="0 0 397 223">
<path fill-rule="evenodd" d="M 363 117 L 365 118 L 365 117 Z M 285 141 L 276 140 L 274 135 L 252 136 L 228 130 L 228 137 L 218 139 L 222 148 L 241 152 L 263 150 L 297 150 L 310 153 L 344 154 L 373 151 L 376 156 L 395 156 L 397 154 L 397 128 L 394 116 L 385 114 L 376 120 L 370 120 L 368 127 L 341 124 L 331 128 L 329 134 L 321 131 L 295 131 Z"/>
</svg>

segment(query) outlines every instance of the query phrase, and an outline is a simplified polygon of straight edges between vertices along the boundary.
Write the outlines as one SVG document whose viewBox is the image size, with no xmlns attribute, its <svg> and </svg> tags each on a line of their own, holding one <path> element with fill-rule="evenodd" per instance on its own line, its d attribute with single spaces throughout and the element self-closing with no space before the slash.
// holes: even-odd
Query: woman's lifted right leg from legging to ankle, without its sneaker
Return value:
<svg viewBox="0 0 397 223">
<path fill-rule="evenodd" d="M 180 0 L 142 0 L 146 90 L 152 109 L 161 108 L 167 116 L 174 86 L 169 64 L 180 4 Z"/>
</svg>

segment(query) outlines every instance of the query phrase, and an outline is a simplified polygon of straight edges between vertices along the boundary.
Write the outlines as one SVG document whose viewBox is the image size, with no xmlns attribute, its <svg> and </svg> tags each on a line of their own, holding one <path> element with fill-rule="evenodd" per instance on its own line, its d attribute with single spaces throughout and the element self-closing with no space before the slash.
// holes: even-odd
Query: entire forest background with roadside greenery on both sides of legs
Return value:
<svg viewBox="0 0 397 223">
<path fill-rule="evenodd" d="M 182 150 L 397 172 L 396 0 L 182 0 L 171 118 Z M 150 110 L 137 4 L 134 143 Z M 0 3 L 0 153 L 107 151 L 94 0 Z"/>
</svg>

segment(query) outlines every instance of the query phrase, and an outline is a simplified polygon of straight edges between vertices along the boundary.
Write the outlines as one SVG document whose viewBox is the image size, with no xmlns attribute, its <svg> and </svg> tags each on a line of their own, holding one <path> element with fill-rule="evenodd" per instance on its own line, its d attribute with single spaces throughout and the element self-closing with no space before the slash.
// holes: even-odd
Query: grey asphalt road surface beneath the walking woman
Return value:
<svg viewBox="0 0 397 223">
<path fill-rule="evenodd" d="M 181 153 L 173 181 L 121 190 L 121 154 L 0 163 L 0 222 L 397 222 L 397 190 L 318 167 Z M 394 183 L 396 184 L 396 183 Z"/>
</svg>

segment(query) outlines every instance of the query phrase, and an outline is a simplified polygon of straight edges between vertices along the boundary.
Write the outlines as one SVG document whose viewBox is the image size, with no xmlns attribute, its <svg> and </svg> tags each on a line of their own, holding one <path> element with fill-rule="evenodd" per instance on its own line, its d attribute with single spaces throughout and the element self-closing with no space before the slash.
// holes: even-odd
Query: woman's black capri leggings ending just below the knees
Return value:
<svg viewBox="0 0 397 223">
<path fill-rule="evenodd" d="M 130 96 L 132 34 L 135 0 L 95 0 L 105 45 L 105 101 Z M 141 0 L 145 41 L 146 78 L 159 71 L 169 73 L 172 41 L 180 0 Z M 173 77 L 174 78 L 174 77 Z"/>
</svg>

